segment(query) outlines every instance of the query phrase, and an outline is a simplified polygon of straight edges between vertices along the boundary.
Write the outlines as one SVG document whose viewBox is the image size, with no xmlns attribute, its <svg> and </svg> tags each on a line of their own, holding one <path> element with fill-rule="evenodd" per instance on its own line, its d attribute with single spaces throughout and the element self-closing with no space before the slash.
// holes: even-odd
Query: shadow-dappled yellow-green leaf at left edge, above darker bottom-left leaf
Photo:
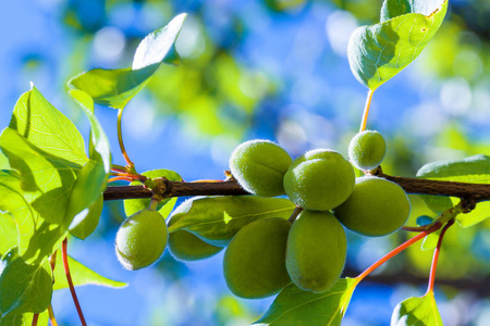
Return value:
<svg viewBox="0 0 490 326">
<path fill-rule="evenodd" d="M 0 210 L 10 212 L 16 222 L 22 258 L 29 264 L 40 264 L 61 244 L 66 229 L 44 220 L 23 196 L 20 185 L 17 173 L 0 171 Z"/>
</svg>

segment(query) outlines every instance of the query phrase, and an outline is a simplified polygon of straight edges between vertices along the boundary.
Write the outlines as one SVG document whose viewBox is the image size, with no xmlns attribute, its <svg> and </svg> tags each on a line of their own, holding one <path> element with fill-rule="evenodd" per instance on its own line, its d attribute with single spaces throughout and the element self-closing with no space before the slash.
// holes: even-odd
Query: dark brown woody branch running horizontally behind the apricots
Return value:
<svg viewBox="0 0 490 326">
<path fill-rule="evenodd" d="M 490 200 L 490 185 L 417 179 L 390 176 L 382 173 L 378 176 L 399 184 L 408 193 L 458 197 L 475 203 Z M 151 191 L 144 186 L 111 186 L 103 192 L 103 200 L 150 198 L 151 195 Z M 180 183 L 164 179 L 159 195 L 162 198 L 170 198 L 250 193 L 233 179 L 217 183 Z"/>
</svg>

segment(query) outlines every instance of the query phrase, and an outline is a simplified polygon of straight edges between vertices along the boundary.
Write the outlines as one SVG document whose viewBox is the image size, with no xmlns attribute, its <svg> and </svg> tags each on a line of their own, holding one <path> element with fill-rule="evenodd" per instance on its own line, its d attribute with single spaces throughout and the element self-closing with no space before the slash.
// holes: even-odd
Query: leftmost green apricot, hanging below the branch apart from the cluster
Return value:
<svg viewBox="0 0 490 326">
<path fill-rule="evenodd" d="M 136 271 L 155 263 L 167 246 L 167 224 L 157 211 L 142 210 L 127 217 L 115 235 L 115 253 L 124 268 Z"/>
</svg>

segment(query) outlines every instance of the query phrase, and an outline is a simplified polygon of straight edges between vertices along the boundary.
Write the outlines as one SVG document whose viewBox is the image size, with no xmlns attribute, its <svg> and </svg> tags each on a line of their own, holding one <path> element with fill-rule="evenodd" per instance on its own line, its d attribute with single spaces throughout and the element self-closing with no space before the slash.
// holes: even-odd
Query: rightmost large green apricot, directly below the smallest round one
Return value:
<svg viewBox="0 0 490 326">
<path fill-rule="evenodd" d="M 333 210 L 346 228 L 370 237 L 397 230 L 409 213 L 411 202 L 402 187 L 375 176 L 357 178 L 351 197 Z"/>
</svg>

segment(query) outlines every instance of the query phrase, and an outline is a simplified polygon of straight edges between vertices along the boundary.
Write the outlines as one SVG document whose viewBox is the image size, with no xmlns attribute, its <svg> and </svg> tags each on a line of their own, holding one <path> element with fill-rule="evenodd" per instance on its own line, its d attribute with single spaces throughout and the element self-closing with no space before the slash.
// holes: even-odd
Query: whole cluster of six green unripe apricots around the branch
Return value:
<svg viewBox="0 0 490 326">
<path fill-rule="evenodd" d="M 363 131 L 351 141 L 351 162 L 364 171 L 376 168 L 385 147 L 379 133 Z M 351 163 L 332 150 L 308 151 L 293 161 L 278 145 L 253 140 L 234 150 L 230 168 L 247 191 L 287 195 L 303 209 L 293 224 L 259 220 L 229 243 L 224 277 L 232 292 L 244 298 L 272 296 L 291 281 L 314 292 L 330 289 L 345 264 L 343 226 L 384 236 L 403 226 L 411 210 L 399 185 L 375 176 L 356 178 Z"/>
</svg>

